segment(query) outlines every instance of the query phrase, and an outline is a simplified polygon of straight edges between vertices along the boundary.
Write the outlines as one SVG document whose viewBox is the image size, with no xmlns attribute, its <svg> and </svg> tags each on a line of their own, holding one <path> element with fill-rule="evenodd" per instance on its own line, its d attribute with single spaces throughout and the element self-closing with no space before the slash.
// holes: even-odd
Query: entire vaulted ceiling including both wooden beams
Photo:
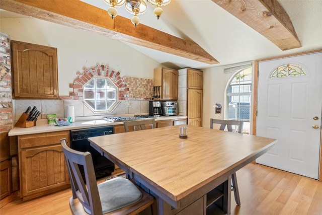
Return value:
<svg viewBox="0 0 322 215">
<path fill-rule="evenodd" d="M 322 47 L 320 0 L 172 0 L 158 21 L 148 5 L 136 28 L 124 8 L 111 20 L 103 0 L 1 0 L 0 6 L 123 41 L 170 67 L 206 68 Z"/>
</svg>

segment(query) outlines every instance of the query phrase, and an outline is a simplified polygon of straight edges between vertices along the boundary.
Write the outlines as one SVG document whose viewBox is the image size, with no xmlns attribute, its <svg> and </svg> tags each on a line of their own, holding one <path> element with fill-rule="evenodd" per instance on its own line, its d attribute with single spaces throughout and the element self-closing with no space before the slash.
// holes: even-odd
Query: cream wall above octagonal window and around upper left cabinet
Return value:
<svg viewBox="0 0 322 215">
<path fill-rule="evenodd" d="M 153 79 L 158 62 L 124 43 L 35 18 L 0 19 L 0 32 L 11 40 L 57 48 L 59 96 L 68 96 L 69 84 L 84 66 L 108 64 L 122 76 Z"/>
</svg>

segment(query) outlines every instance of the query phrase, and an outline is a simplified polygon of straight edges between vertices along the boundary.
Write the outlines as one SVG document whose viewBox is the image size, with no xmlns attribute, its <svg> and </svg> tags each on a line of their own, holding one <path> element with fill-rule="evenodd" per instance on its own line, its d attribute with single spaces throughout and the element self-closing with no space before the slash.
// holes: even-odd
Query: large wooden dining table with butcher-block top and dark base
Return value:
<svg viewBox="0 0 322 215">
<path fill-rule="evenodd" d="M 153 214 L 229 214 L 231 174 L 277 140 L 192 125 L 187 125 L 188 138 L 179 138 L 180 126 L 89 141 L 155 197 Z"/>
</svg>

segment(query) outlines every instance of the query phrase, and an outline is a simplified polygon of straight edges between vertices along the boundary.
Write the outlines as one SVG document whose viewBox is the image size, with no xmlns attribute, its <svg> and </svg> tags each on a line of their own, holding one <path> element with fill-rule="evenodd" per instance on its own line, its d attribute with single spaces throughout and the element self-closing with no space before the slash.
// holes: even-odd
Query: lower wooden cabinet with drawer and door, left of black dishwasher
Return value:
<svg viewBox="0 0 322 215">
<path fill-rule="evenodd" d="M 70 186 L 61 138 L 69 142 L 69 131 L 18 137 L 20 191 L 24 200 Z"/>
</svg>

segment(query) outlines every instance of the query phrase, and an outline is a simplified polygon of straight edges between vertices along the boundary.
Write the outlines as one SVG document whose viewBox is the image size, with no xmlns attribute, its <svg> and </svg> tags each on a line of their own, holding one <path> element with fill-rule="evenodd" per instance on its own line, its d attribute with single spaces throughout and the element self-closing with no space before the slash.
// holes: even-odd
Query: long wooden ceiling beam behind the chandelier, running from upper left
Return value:
<svg viewBox="0 0 322 215">
<path fill-rule="evenodd" d="M 41 20 L 82 29 L 123 42 L 163 51 L 207 64 L 219 63 L 198 44 L 129 19 L 112 20 L 107 11 L 78 0 L 1 0 L 0 8 Z"/>
</svg>

